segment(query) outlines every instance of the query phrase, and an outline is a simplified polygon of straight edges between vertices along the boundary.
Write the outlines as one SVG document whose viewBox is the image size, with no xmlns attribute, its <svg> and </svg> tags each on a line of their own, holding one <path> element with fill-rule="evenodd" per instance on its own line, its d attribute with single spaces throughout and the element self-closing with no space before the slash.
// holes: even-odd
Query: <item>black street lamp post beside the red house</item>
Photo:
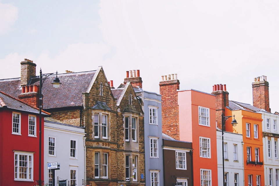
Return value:
<svg viewBox="0 0 279 186">
<path fill-rule="evenodd" d="M 53 73 L 51 73 L 53 74 Z M 40 95 L 39 95 L 39 108 L 40 108 L 40 131 L 39 131 L 39 186 L 42 185 L 42 178 L 41 178 L 41 167 L 42 167 L 42 86 L 44 81 L 49 77 L 51 74 L 42 74 L 42 69 L 40 69 Z M 44 78 L 43 78 L 44 76 Z M 57 77 L 57 71 L 56 71 L 56 78 L 53 79 L 54 88 L 58 88 L 60 86 L 59 78 Z"/>
</svg>

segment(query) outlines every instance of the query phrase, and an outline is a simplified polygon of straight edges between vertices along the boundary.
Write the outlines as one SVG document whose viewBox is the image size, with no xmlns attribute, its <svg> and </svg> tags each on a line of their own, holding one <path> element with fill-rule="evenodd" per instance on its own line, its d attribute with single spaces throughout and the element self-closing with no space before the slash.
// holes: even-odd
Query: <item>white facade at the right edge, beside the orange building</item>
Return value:
<svg viewBox="0 0 279 186">
<path fill-rule="evenodd" d="M 278 124 L 279 115 L 262 112 L 264 183 L 267 186 L 279 186 Z"/>
</svg>

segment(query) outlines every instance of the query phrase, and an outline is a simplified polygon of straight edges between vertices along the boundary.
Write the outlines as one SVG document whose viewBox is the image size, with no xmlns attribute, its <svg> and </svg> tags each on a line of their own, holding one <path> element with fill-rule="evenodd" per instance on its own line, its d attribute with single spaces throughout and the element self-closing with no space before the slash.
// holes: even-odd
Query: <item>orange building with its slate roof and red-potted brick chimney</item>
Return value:
<svg viewBox="0 0 279 186">
<path fill-rule="evenodd" d="M 233 127 L 233 117 L 230 117 L 225 123 L 225 130 L 243 136 L 244 185 L 264 185 L 262 114 L 250 104 L 228 101 L 228 92 L 221 86 L 218 90 L 213 87 L 212 92 L 216 95 L 217 126 L 221 127 L 218 122 L 221 122 L 221 113 L 224 116 L 235 115 L 238 124 Z"/>
</svg>

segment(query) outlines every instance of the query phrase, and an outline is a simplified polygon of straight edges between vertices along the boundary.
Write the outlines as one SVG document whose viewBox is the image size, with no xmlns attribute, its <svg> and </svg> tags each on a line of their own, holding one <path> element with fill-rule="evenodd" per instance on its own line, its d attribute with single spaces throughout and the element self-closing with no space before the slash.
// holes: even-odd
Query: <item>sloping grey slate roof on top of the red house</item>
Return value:
<svg viewBox="0 0 279 186">
<path fill-rule="evenodd" d="M 13 110 L 31 112 L 35 114 L 39 114 L 39 108 L 33 107 L 23 101 L 16 99 L 4 92 L 0 91 L 0 108 L 9 108 Z M 49 115 L 50 113 L 42 110 L 42 115 Z"/>
</svg>

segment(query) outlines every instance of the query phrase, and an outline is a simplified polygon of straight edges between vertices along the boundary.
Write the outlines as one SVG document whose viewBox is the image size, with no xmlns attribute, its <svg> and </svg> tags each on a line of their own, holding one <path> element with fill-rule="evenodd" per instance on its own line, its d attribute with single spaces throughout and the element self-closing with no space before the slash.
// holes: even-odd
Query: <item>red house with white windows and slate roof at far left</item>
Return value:
<svg viewBox="0 0 279 186">
<path fill-rule="evenodd" d="M 42 125 L 48 115 L 42 112 Z M 30 186 L 39 180 L 39 119 L 38 108 L 0 91 L 0 185 Z"/>
</svg>

